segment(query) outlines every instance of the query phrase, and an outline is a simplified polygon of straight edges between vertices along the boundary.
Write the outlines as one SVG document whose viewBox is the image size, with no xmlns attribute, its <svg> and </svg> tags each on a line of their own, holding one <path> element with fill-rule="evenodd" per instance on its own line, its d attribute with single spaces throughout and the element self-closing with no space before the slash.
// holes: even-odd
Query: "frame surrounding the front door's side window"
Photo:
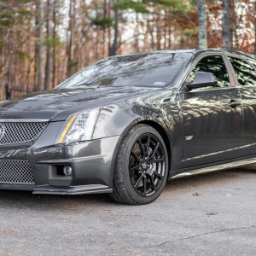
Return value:
<svg viewBox="0 0 256 256">
<path fill-rule="evenodd" d="M 224 61 L 224 65 L 227 69 L 227 73 L 229 75 L 229 79 L 230 79 L 230 86 L 226 86 L 226 87 L 216 87 L 216 88 L 212 88 L 212 89 L 208 89 L 208 90 L 219 90 L 219 89 L 228 89 L 228 88 L 234 88 L 235 87 L 235 79 L 234 79 L 234 76 L 233 76 L 233 73 L 231 72 L 230 70 L 230 64 L 229 61 L 227 60 L 226 56 L 224 55 L 224 53 L 221 53 L 221 52 L 208 52 L 208 53 L 203 53 L 201 55 L 199 55 L 195 61 L 192 63 L 192 65 L 189 67 L 189 70 L 187 71 L 184 79 L 183 79 L 183 83 L 181 84 L 180 88 L 178 89 L 178 91 L 185 91 L 185 81 L 186 79 L 188 78 L 189 74 L 192 72 L 192 70 L 195 68 L 195 66 L 198 64 L 199 61 L 201 61 L 201 59 L 203 59 L 204 57 L 207 57 L 207 56 L 222 56 L 222 59 Z M 199 90 L 196 90 L 197 92 Z M 207 91 L 207 90 L 200 90 L 200 91 Z M 191 91 L 190 91 L 191 92 Z M 193 91 L 192 91 L 193 92 Z"/>
</svg>

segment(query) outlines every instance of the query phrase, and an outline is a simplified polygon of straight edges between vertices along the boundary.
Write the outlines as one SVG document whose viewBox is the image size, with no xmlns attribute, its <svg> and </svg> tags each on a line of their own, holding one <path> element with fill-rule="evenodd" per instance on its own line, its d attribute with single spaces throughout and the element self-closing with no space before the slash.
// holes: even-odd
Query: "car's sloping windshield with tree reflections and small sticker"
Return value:
<svg viewBox="0 0 256 256">
<path fill-rule="evenodd" d="M 109 57 L 84 68 L 57 88 L 152 86 L 171 84 L 189 60 L 188 53 L 148 53 Z"/>
</svg>

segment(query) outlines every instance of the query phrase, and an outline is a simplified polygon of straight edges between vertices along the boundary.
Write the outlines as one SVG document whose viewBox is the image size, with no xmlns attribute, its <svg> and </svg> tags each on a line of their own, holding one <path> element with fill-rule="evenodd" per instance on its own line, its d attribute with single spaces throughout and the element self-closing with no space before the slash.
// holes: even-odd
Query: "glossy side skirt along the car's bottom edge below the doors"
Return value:
<svg viewBox="0 0 256 256">
<path fill-rule="evenodd" d="M 246 159 L 246 160 L 236 160 L 231 163 L 219 164 L 216 166 L 208 166 L 208 167 L 196 169 L 194 171 L 183 172 L 183 173 L 173 176 L 172 179 L 176 179 L 179 177 L 189 177 L 189 176 L 199 175 L 199 174 L 203 174 L 203 173 L 207 173 L 207 172 L 224 171 L 224 170 L 233 169 L 236 167 L 253 165 L 255 163 L 256 163 L 256 157 Z"/>
</svg>

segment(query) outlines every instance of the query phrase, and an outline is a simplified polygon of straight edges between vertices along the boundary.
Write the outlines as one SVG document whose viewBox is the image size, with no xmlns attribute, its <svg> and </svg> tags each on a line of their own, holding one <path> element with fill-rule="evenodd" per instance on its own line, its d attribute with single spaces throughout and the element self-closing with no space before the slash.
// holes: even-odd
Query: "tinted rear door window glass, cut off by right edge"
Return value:
<svg viewBox="0 0 256 256">
<path fill-rule="evenodd" d="M 232 66 L 234 67 L 238 83 L 243 86 L 256 85 L 256 73 L 254 68 L 247 61 L 229 57 Z"/>
</svg>

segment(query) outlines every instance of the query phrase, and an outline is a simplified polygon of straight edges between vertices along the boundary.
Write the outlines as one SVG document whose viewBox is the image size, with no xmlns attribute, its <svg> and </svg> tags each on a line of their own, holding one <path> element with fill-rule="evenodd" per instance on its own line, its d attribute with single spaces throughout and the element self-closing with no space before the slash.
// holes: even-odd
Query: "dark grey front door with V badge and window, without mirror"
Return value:
<svg viewBox="0 0 256 256">
<path fill-rule="evenodd" d="M 241 155 L 241 95 L 234 86 L 227 60 L 222 54 L 201 56 L 191 68 L 186 82 L 193 81 L 198 72 L 213 73 L 218 85 L 179 93 L 183 118 L 183 167 Z"/>
</svg>

